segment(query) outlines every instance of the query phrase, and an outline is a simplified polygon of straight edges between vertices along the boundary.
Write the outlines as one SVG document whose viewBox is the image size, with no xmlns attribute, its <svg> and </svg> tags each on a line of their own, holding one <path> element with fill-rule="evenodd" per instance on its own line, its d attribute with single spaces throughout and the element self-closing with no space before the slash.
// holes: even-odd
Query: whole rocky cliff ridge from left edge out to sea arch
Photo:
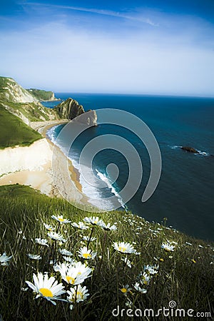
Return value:
<svg viewBox="0 0 214 321">
<path fill-rule="evenodd" d="M 42 91 L 39 89 L 22 88 L 12 78 L 0 76 L 0 103 L 10 113 L 21 118 L 26 124 L 31 121 L 50 121 L 58 119 L 72 120 L 79 115 L 83 115 L 78 122 L 96 126 L 96 112 L 88 111 L 85 113 L 83 106 L 77 101 L 68 98 L 58 104 L 55 108 L 46 108 L 39 101 L 58 100 L 53 91 Z"/>
</svg>

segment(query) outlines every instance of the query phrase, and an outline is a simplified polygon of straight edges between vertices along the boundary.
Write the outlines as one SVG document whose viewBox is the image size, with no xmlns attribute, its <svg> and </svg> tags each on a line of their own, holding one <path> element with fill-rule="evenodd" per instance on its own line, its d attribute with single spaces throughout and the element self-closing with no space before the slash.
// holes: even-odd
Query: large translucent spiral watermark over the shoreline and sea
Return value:
<svg viewBox="0 0 214 321">
<path fill-rule="evenodd" d="M 148 183 L 141 197 L 142 202 L 146 202 L 156 190 L 161 176 L 161 151 L 155 136 L 146 123 L 132 113 L 106 108 L 96 110 L 96 114 L 98 116 L 98 126 L 108 124 L 110 126 L 113 125 L 126 128 L 126 130 L 130 131 L 132 134 L 135 134 L 138 139 L 143 142 L 144 146 L 146 146 L 151 163 Z M 91 121 L 93 117 L 94 111 L 89 111 L 67 123 L 56 138 L 52 158 L 53 176 L 56 187 L 63 198 L 83 210 L 86 210 L 86 207 L 81 200 L 86 198 L 85 194 L 87 193 L 84 193 L 84 190 L 78 183 L 78 172 L 74 173 L 75 175 L 73 174 L 73 177 L 71 177 L 69 162 L 62 158 L 59 160 L 58 146 L 62 146 L 63 144 L 63 153 L 72 158 L 72 146 L 74 141 L 81 136 L 82 133 L 87 133 L 87 131 L 93 127 L 93 121 Z M 103 194 L 99 193 L 99 191 L 101 192 L 102 189 L 106 187 L 109 188 L 108 174 L 111 177 L 112 187 L 121 170 L 113 159 L 111 159 L 106 166 L 107 176 L 94 170 L 93 159 L 99 152 L 107 149 L 118 151 L 126 158 L 126 162 L 128 163 L 128 179 L 126 185 L 124 185 L 120 191 L 112 193 L 108 198 L 103 198 Z M 90 195 L 91 204 L 99 203 L 102 205 L 105 203 L 105 208 L 103 210 L 116 210 L 121 207 L 121 205 L 126 204 L 133 198 L 133 195 L 136 194 L 143 178 L 143 164 L 138 151 L 128 139 L 119 134 L 106 133 L 92 136 L 91 139 L 87 141 L 86 145 L 83 146 L 77 167 L 80 173 L 81 182 L 84 183 L 83 185 L 86 186 L 88 184 L 88 188 L 96 188 L 97 190 L 96 195 Z M 59 169 L 60 175 L 56 175 Z M 101 212 L 102 209 L 98 206 L 98 208 L 93 208 L 93 211 Z"/>
</svg>

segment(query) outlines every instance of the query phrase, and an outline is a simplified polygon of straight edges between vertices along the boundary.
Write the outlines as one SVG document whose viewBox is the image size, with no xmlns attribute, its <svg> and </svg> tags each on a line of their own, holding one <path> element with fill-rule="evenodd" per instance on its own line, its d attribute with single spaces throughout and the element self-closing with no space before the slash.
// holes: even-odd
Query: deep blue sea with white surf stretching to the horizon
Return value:
<svg viewBox="0 0 214 321">
<path fill-rule="evenodd" d="M 120 152 L 107 148 L 100 151 L 92 163 L 94 175 L 106 182 L 106 188 L 99 190 L 86 185 L 81 178 L 83 191 L 89 198 L 109 198 L 116 195 L 121 208 L 128 208 L 146 220 L 161 222 L 163 218 L 168 218 L 168 225 L 173 228 L 197 238 L 214 240 L 214 98 L 83 93 L 56 93 L 56 97 L 75 98 L 85 110 L 116 108 L 138 116 L 151 128 L 161 150 L 161 179 L 151 198 L 142 203 L 141 198 L 151 170 L 146 146 L 126 128 L 103 124 L 102 119 L 98 118 L 100 124 L 97 127 L 90 128 L 74 141 L 69 151 L 73 165 L 79 168 L 79 156 L 86 143 L 111 133 L 121 136 L 136 148 L 143 165 L 143 178 L 136 194 L 124 204 L 120 191 L 128 180 L 128 162 Z M 50 106 L 46 103 L 46 107 L 53 107 L 53 102 Z M 62 128 L 63 126 L 51 128 L 48 135 L 55 140 Z M 109 138 L 112 139 L 112 144 L 115 136 Z M 68 143 L 69 138 L 68 141 L 65 138 L 61 142 L 61 148 Z M 192 146 L 200 153 L 187 153 L 180 146 Z M 118 166 L 116 180 L 107 170 L 110 163 Z M 87 163 L 86 158 L 86 170 L 88 164 L 89 159 Z M 133 181 L 137 181 L 138 173 L 132 175 Z M 108 199 L 106 203 L 103 200 L 102 206 L 105 207 L 105 204 L 108 205 Z M 95 201 L 93 205 L 99 204 Z"/>
</svg>

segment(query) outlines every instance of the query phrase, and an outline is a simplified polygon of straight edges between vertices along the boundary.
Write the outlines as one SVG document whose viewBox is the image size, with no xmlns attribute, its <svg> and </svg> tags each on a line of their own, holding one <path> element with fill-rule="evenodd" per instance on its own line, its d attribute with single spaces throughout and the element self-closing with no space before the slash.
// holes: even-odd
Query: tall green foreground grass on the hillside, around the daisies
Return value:
<svg viewBox="0 0 214 321">
<path fill-rule="evenodd" d="M 118 229 L 105 231 L 94 226 L 92 236 L 96 240 L 91 241 L 88 248 L 96 251 L 97 255 L 94 260 L 88 261 L 88 266 L 93 269 L 92 277 L 83 282 L 90 296 L 85 301 L 76 303 L 74 309 L 70 310 L 68 302 L 56 301 L 54 306 L 44 298 L 35 299 L 33 291 L 27 287 L 25 281 L 32 282 L 33 273 L 49 272 L 49 276 L 54 275 L 61 282 L 60 274 L 49 265 L 49 260 L 54 255 L 54 259 L 63 262 L 58 252 L 61 246 L 70 250 L 73 258 L 79 261 L 81 258 L 78 257 L 78 250 L 87 245 L 82 237 L 91 234 L 92 225 L 88 230 L 78 230 L 73 228 L 71 223 L 58 225 L 51 215 L 63 215 L 71 222 L 78 223 L 86 216 L 97 214 L 84 212 L 65 200 L 49 198 L 21 185 L 0 188 L 0 213 L 0 253 L 6 252 L 13 256 L 9 265 L 0 265 L 0 312 L 3 320 L 130 320 L 131 317 L 113 317 L 111 311 L 117 305 L 127 310 L 128 302 L 133 310 L 152 308 L 157 312 L 163 306 L 168 308 L 171 300 L 177 303 L 178 308 L 193 309 L 195 313 L 214 312 L 214 273 L 213 265 L 210 265 L 213 261 L 213 245 L 168 228 L 165 226 L 167 220 L 163 220 L 163 225 L 158 225 L 148 223 L 131 213 L 99 213 L 99 218 L 105 223 L 117 223 Z M 59 245 L 51 241 L 43 223 L 56 226 L 67 242 Z M 36 244 L 35 238 L 49 239 L 49 248 Z M 161 248 L 161 244 L 166 240 L 178 243 L 174 252 L 165 252 Z M 141 253 L 128 256 L 132 267 L 128 267 L 121 260 L 126 258 L 126 255 L 113 249 L 113 242 L 119 241 L 133 244 Z M 192 245 L 187 245 L 186 242 Z M 51 249 L 54 249 L 54 252 Z M 41 255 L 42 259 L 31 260 L 27 253 Z M 158 273 L 151 277 L 151 282 L 143 285 L 147 290 L 146 294 L 141 294 L 133 285 L 143 271 L 143 266 L 147 264 L 158 264 L 159 269 Z M 67 289 L 70 287 L 64 282 L 63 284 Z M 126 285 L 130 290 L 124 294 L 121 288 Z M 136 317 L 132 320 L 153 318 Z M 154 320 L 189 319 L 161 315 Z"/>
</svg>

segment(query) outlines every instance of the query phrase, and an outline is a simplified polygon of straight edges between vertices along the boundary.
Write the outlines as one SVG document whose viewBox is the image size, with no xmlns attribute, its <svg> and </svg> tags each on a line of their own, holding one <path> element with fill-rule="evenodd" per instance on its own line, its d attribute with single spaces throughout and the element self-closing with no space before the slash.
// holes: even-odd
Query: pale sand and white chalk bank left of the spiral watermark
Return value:
<svg viewBox="0 0 214 321">
<path fill-rule="evenodd" d="M 1 150 L 0 185 L 30 185 L 46 195 L 64 197 L 87 205 L 87 197 L 81 192 L 78 170 L 60 148 L 46 137 L 49 128 L 66 122 L 31 122 L 31 127 L 44 138 L 31 146 Z"/>
</svg>

